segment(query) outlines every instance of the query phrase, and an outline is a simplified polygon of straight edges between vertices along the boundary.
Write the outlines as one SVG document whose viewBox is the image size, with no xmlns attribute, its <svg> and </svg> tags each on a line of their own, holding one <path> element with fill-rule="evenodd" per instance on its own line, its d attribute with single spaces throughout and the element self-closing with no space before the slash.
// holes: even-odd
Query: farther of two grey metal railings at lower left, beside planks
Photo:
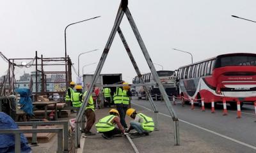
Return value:
<svg viewBox="0 0 256 153">
<path fill-rule="evenodd" d="M 33 129 L 36 129 L 37 126 L 49 126 L 49 125 L 63 125 L 63 137 L 64 137 L 64 151 L 68 152 L 68 121 L 49 121 L 49 122 L 16 122 L 18 126 L 32 126 Z M 1 132 L 0 132 L 1 133 Z M 32 145 L 37 144 L 36 133 L 32 134 Z"/>
</svg>

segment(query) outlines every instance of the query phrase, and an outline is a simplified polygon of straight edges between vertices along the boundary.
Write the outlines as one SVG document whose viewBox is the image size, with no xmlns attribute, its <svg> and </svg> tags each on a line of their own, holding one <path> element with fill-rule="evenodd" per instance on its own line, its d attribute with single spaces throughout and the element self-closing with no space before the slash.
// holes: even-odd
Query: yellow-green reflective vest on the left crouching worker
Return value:
<svg viewBox="0 0 256 153">
<path fill-rule="evenodd" d="M 111 123 L 114 119 L 115 115 L 108 115 L 99 120 L 97 124 L 95 124 L 97 131 L 99 132 L 108 132 L 115 129 L 115 126 Z"/>
</svg>

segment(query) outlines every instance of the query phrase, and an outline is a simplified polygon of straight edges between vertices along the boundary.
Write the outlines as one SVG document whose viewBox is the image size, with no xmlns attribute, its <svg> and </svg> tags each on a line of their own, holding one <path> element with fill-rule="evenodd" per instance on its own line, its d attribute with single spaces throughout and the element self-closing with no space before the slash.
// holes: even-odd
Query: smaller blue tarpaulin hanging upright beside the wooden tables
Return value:
<svg viewBox="0 0 256 153">
<path fill-rule="evenodd" d="M 31 96 L 31 91 L 30 89 L 27 88 L 19 88 L 16 89 L 16 92 L 18 92 L 20 94 L 20 106 L 21 106 L 21 110 L 24 110 L 24 112 L 27 115 L 34 115 L 33 113 L 33 105 L 32 105 L 32 100 L 30 98 Z"/>
</svg>

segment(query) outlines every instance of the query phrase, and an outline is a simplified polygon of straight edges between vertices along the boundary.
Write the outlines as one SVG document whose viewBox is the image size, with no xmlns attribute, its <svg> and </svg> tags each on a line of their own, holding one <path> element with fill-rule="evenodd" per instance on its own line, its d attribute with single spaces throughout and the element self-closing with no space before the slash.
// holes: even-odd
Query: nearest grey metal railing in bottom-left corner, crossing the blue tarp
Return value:
<svg viewBox="0 0 256 153">
<path fill-rule="evenodd" d="M 15 153 L 20 153 L 20 133 L 58 133 L 57 153 L 63 152 L 63 129 L 61 129 L 61 128 L 54 128 L 54 129 L 0 129 L 0 133 L 15 135 Z"/>
</svg>

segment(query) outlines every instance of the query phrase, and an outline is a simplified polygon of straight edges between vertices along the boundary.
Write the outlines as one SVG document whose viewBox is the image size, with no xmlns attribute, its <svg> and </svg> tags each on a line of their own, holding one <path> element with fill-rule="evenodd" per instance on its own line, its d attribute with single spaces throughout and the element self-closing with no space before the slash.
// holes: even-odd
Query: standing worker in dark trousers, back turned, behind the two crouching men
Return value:
<svg viewBox="0 0 256 153">
<path fill-rule="evenodd" d="M 123 84 L 128 84 L 124 82 Z M 128 128 L 125 122 L 125 112 L 128 109 L 130 98 L 127 95 L 127 91 L 130 87 L 116 87 L 116 93 L 114 95 L 114 103 L 116 105 L 116 110 L 120 113 L 120 122 L 124 128 Z"/>
</svg>

